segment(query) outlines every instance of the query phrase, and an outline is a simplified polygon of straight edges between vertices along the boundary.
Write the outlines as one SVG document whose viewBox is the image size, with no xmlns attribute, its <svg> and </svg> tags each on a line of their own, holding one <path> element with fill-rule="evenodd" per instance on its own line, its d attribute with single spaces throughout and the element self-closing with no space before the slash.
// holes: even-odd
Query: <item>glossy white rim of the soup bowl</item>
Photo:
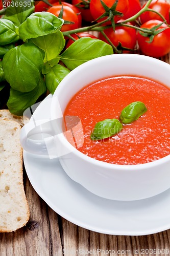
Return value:
<svg viewBox="0 0 170 256">
<path fill-rule="evenodd" d="M 70 79 L 72 79 L 72 77 L 74 77 L 77 73 L 79 73 L 80 71 L 82 71 L 82 69 L 86 68 L 87 66 L 93 66 L 95 65 L 95 63 L 98 63 L 99 61 L 103 61 L 103 60 L 108 60 L 108 59 L 112 59 L 112 58 L 115 58 L 115 59 L 143 59 L 145 61 L 152 61 L 152 62 L 155 62 L 157 63 L 158 65 L 161 65 L 162 67 L 166 67 L 169 69 L 170 71 L 170 65 L 160 59 L 156 59 L 156 58 L 153 58 L 153 57 L 150 57 L 150 56 L 145 56 L 145 55 L 139 55 L 139 54 L 116 54 L 116 55 L 106 55 L 106 56 L 101 56 L 101 57 L 98 57 L 98 58 L 95 58 L 95 59 L 92 59 L 92 60 L 89 60 L 85 63 L 83 63 L 82 65 L 78 66 L 77 68 L 75 68 L 74 70 L 72 70 L 70 73 L 67 74 L 66 77 L 63 78 L 63 80 L 60 82 L 60 84 L 58 85 L 57 89 L 55 90 L 54 92 L 54 95 L 53 95 L 53 98 L 52 98 L 52 104 L 51 104 L 51 117 L 52 119 L 55 119 L 56 118 L 56 113 L 53 111 L 55 109 L 55 97 L 58 97 L 58 94 L 60 94 L 63 90 L 64 90 L 64 84 L 67 84 L 67 82 L 69 82 Z M 122 74 L 124 75 L 124 74 Z M 152 79 L 152 78 L 151 78 Z M 68 102 L 67 102 L 68 103 Z M 94 159 L 94 158 L 91 158 L 85 154 L 83 154 L 82 152 L 80 152 L 79 150 L 77 150 L 77 148 L 75 148 L 73 145 L 71 145 L 68 140 L 65 138 L 64 134 L 61 133 L 60 134 L 60 137 L 59 137 L 59 140 L 62 144 L 64 144 L 64 146 L 69 150 L 70 153 L 74 153 L 74 155 L 76 155 L 78 158 L 84 160 L 84 161 L 87 161 L 93 165 L 96 165 L 96 166 L 100 166 L 102 168 L 107 168 L 107 169 L 116 169 L 116 170 L 128 170 L 128 171 L 131 171 L 133 172 L 134 170 L 147 170 L 148 168 L 152 168 L 152 167 L 155 167 L 155 166 L 159 166 L 161 164 L 164 164 L 168 161 L 170 161 L 170 154 L 163 157 L 163 158 L 160 158 L 160 159 L 157 159 L 157 160 L 154 160 L 152 162 L 147 162 L 147 163 L 141 163 L 141 164 L 114 164 L 114 163 L 108 163 L 108 162 L 104 162 L 104 161 L 100 161 L 100 160 L 97 160 L 97 159 Z"/>
</svg>

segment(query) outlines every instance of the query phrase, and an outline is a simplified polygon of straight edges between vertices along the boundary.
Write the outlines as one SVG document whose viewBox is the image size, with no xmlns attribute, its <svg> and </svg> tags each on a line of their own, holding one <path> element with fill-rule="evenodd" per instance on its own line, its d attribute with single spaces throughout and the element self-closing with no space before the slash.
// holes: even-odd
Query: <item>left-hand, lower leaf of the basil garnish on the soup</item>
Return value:
<svg viewBox="0 0 170 256">
<path fill-rule="evenodd" d="M 92 140 L 102 140 L 109 138 L 123 129 L 122 123 L 118 119 L 105 119 L 95 124 L 91 134 Z"/>
</svg>

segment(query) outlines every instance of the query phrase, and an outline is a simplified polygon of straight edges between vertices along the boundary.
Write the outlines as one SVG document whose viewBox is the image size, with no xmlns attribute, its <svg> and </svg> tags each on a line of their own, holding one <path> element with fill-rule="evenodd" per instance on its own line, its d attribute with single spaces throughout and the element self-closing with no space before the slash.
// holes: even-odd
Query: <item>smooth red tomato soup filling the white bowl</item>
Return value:
<svg viewBox="0 0 170 256">
<path fill-rule="evenodd" d="M 122 110 L 134 101 L 143 102 L 147 112 L 110 138 L 90 139 L 97 122 L 119 119 Z M 170 154 L 170 90 L 156 81 L 119 76 L 94 82 L 72 97 L 64 116 L 80 117 L 84 143 L 78 150 L 91 158 L 127 165 Z"/>
</svg>

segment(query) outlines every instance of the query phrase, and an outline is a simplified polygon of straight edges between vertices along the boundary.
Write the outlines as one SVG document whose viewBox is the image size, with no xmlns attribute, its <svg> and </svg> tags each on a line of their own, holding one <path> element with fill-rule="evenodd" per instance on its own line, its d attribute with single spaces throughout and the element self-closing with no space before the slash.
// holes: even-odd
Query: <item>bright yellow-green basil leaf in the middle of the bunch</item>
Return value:
<svg viewBox="0 0 170 256">
<path fill-rule="evenodd" d="M 60 30 L 53 34 L 32 38 L 30 41 L 45 52 L 44 62 L 57 58 L 65 46 L 65 39 Z"/>
</svg>

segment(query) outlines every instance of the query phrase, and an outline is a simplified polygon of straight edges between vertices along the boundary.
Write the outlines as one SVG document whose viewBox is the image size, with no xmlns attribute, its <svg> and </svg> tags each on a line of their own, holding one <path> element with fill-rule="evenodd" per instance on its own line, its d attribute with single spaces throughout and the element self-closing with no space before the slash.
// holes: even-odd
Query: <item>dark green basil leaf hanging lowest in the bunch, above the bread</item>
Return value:
<svg viewBox="0 0 170 256">
<path fill-rule="evenodd" d="M 22 115 L 31 105 L 35 104 L 37 99 L 46 92 L 46 86 L 43 78 L 40 78 L 39 84 L 34 90 L 21 93 L 11 88 L 10 97 L 7 102 L 9 111 L 14 115 Z"/>
</svg>

